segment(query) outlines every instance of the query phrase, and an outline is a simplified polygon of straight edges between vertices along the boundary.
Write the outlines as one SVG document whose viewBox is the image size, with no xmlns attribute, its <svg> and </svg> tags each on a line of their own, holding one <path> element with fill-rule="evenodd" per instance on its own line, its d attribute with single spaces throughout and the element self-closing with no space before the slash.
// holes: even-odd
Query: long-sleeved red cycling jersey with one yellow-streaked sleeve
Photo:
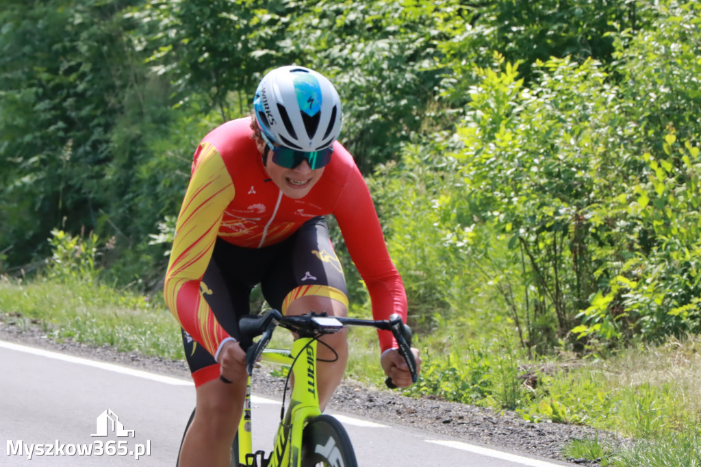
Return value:
<svg viewBox="0 0 701 467">
<path fill-rule="evenodd" d="M 334 215 L 351 259 L 367 285 L 375 319 L 400 313 L 407 297 L 390 260 L 382 229 L 353 157 L 334 143 L 332 161 L 301 199 L 283 196 L 268 178 L 250 119 L 219 126 L 200 142 L 180 210 L 165 277 L 165 302 L 180 325 L 215 354 L 229 337 L 200 292 L 217 237 L 245 248 L 283 241 L 312 217 Z M 380 333 L 382 350 L 393 345 Z"/>
</svg>

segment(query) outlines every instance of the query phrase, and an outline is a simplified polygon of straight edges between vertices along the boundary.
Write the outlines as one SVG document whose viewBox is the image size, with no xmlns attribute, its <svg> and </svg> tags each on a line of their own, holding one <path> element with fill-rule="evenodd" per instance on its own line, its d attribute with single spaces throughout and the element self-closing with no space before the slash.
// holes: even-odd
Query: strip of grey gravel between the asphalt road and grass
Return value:
<svg viewBox="0 0 701 467">
<path fill-rule="evenodd" d="M 0 340 L 39 346 L 93 360 L 126 365 L 149 372 L 189 378 L 187 365 L 181 360 L 144 356 L 138 352 L 119 352 L 109 346 L 89 346 L 72 340 L 56 341 L 39 327 L 13 325 L 0 316 Z M 282 397 L 285 383 L 261 369 L 254 372 L 253 392 L 271 398 Z M 447 402 L 438 398 L 408 398 L 389 390 L 363 387 L 344 381 L 329 403 L 329 409 L 359 417 L 372 417 L 395 424 L 445 435 L 473 445 L 507 449 L 526 456 L 537 456 L 583 466 L 599 466 L 584 459 L 565 459 L 562 449 L 573 439 L 620 442 L 609 433 L 585 426 L 524 421 L 515 412 L 497 412 L 472 405 Z"/>
</svg>

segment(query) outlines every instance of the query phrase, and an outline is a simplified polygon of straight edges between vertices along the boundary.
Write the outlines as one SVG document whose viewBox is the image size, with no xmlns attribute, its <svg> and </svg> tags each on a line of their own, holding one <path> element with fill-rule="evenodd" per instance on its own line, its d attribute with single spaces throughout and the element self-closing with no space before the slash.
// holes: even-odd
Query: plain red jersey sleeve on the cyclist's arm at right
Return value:
<svg viewBox="0 0 701 467">
<path fill-rule="evenodd" d="M 358 168 L 348 178 L 334 210 L 351 259 L 367 285 L 375 319 L 399 313 L 406 323 L 407 295 L 390 259 L 372 197 Z M 396 347 L 391 332 L 379 331 L 382 351 Z"/>
</svg>

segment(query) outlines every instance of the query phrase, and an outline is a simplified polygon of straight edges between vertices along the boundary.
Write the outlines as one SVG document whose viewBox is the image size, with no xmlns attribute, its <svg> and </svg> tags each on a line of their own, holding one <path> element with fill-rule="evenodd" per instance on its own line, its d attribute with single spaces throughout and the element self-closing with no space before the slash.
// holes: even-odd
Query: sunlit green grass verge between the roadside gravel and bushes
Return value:
<svg viewBox="0 0 701 467">
<path fill-rule="evenodd" d="M 351 310 L 353 316 L 367 312 Z M 0 278 L 0 323 L 40 326 L 54 339 L 72 338 L 119 351 L 183 358 L 179 327 L 160 297 L 149 299 L 95 281 Z M 460 323 L 447 334 L 415 337 L 422 349 L 418 384 L 407 395 L 517 410 L 531 421 L 583 424 L 637 440 L 625 447 L 608 436 L 572 440 L 564 455 L 604 466 L 701 467 L 701 336 L 669 339 L 661 346 L 629 348 L 608 358 L 530 362 L 515 340 L 470 335 Z M 287 332 L 273 346 L 289 346 Z M 383 386 L 376 332 L 348 334 L 346 378 Z M 526 381 L 537 381 L 535 387 Z"/>
</svg>

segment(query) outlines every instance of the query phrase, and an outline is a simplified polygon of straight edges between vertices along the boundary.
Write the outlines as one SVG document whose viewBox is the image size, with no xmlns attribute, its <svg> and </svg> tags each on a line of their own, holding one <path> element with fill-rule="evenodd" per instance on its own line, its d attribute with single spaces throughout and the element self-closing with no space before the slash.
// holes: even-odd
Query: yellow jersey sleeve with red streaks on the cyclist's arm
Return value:
<svg viewBox="0 0 701 467">
<path fill-rule="evenodd" d="M 217 323 L 200 292 L 200 283 L 212 257 L 224 209 L 234 193 L 222 156 L 211 144 L 200 144 L 178 216 L 163 292 L 178 323 L 212 355 L 229 334 Z"/>
</svg>

